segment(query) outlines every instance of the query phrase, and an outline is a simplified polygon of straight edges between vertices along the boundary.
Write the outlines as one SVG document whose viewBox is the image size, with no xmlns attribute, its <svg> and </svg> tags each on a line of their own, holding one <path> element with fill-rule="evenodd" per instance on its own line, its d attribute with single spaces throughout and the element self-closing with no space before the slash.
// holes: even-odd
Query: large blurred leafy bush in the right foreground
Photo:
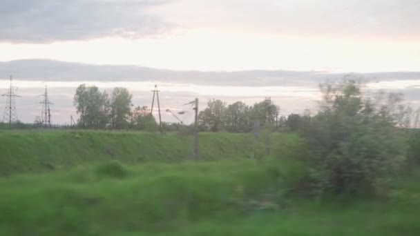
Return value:
<svg viewBox="0 0 420 236">
<path fill-rule="evenodd" d="M 396 128 L 401 97 L 374 101 L 363 97 L 361 84 L 346 77 L 321 85 L 321 110 L 303 130 L 319 193 L 374 193 L 405 160 L 403 130 Z"/>
</svg>

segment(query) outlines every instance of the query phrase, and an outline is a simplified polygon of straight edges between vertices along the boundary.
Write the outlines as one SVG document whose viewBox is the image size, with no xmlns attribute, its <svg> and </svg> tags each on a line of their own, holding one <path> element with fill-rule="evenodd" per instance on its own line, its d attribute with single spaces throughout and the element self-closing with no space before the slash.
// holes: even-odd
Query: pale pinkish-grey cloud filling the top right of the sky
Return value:
<svg viewBox="0 0 420 236">
<path fill-rule="evenodd" d="M 305 37 L 420 36 L 420 4 L 412 0 L 184 0 L 180 5 L 185 2 L 197 10 L 173 9 L 176 13 L 166 17 L 182 26 Z"/>
</svg>

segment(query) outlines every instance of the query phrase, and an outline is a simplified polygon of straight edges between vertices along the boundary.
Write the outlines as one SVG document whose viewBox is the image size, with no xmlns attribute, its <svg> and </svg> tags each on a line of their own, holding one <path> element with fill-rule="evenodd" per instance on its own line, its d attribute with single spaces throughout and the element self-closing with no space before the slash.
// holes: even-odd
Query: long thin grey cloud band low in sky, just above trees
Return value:
<svg viewBox="0 0 420 236">
<path fill-rule="evenodd" d="M 245 70 L 202 72 L 163 70 L 141 66 L 94 66 L 44 59 L 0 62 L 0 79 L 14 75 L 29 81 L 155 81 L 211 86 L 304 86 L 314 87 L 345 74 L 287 70 Z M 369 81 L 420 79 L 420 72 L 378 72 L 359 74 Z"/>
</svg>

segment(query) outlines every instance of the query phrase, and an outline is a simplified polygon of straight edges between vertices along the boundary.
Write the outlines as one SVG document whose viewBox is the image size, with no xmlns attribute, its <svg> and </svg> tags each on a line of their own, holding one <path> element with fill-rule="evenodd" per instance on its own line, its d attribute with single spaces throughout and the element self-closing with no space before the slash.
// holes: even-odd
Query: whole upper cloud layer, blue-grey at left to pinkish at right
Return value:
<svg viewBox="0 0 420 236">
<path fill-rule="evenodd" d="M 149 14 L 150 7 L 166 2 L 174 4 Z M 0 41 L 137 38 L 175 25 L 305 37 L 418 39 L 419 11 L 420 4 L 411 0 L 3 0 Z"/>
</svg>

